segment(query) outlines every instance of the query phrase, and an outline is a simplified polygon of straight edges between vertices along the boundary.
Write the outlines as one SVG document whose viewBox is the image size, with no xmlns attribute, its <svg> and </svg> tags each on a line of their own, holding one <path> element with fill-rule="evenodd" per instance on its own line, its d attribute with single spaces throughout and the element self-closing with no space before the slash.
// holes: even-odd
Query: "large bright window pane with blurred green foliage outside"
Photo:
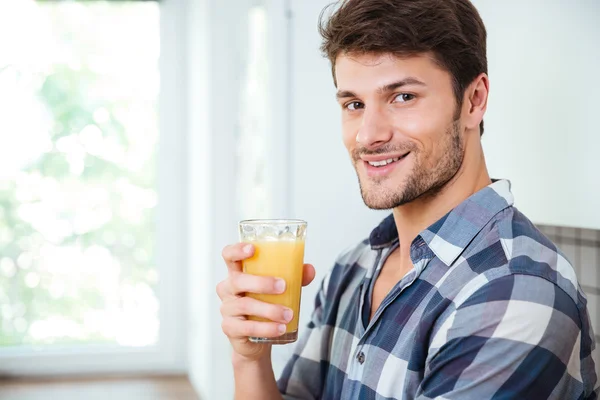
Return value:
<svg viewBox="0 0 600 400">
<path fill-rule="evenodd" d="M 157 2 L 0 2 L 0 351 L 158 341 Z"/>
</svg>

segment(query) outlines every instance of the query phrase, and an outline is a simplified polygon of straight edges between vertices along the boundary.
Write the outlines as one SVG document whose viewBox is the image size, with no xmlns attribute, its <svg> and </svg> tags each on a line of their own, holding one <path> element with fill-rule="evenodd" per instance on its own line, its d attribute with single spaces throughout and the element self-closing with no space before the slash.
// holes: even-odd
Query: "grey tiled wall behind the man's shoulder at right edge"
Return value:
<svg viewBox="0 0 600 400">
<path fill-rule="evenodd" d="M 539 228 L 575 267 L 579 283 L 588 298 L 596 343 L 600 345 L 600 231 L 553 226 Z"/>
</svg>

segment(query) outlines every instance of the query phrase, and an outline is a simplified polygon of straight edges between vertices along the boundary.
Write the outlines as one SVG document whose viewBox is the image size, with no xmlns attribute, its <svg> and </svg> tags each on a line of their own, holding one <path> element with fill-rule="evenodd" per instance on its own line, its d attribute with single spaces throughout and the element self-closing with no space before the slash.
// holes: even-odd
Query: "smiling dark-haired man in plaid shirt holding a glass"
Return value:
<svg viewBox="0 0 600 400">
<path fill-rule="evenodd" d="M 247 337 L 280 335 L 290 310 L 243 294 L 284 282 L 241 272 L 252 246 L 223 250 L 236 398 L 596 399 L 574 270 L 486 169 L 486 31 L 474 6 L 347 0 L 321 34 L 364 202 L 393 212 L 339 256 L 278 382 L 270 347 Z M 304 284 L 313 277 L 306 265 Z"/>
</svg>

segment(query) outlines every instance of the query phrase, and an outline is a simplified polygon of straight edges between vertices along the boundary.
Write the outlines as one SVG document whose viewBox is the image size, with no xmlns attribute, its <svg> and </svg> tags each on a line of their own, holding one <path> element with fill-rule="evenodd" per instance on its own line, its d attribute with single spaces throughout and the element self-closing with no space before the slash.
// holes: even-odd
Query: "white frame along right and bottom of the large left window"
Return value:
<svg viewBox="0 0 600 400">
<path fill-rule="evenodd" d="M 139 0 L 136 0 L 139 1 Z M 187 349 L 186 0 L 160 7 L 156 345 L 19 346 L 0 349 L 0 376 L 185 373 Z M 183 78 L 182 78 L 183 77 Z M 178 310 L 179 312 L 174 312 Z"/>
</svg>

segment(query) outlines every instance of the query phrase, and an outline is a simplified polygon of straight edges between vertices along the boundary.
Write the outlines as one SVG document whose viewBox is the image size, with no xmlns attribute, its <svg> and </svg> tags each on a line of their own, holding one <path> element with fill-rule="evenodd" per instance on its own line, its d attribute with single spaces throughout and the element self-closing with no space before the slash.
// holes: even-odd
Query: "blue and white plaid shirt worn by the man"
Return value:
<svg viewBox="0 0 600 400">
<path fill-rule="evenodd" d="M 324 279 L 278 381 L 286 399 L 596 399 L 594 335 L 571 264 L 495 181 L 411 244 L 412 269 L 372 320 L 398 247 L 392 216 Z"/>
</svg>

